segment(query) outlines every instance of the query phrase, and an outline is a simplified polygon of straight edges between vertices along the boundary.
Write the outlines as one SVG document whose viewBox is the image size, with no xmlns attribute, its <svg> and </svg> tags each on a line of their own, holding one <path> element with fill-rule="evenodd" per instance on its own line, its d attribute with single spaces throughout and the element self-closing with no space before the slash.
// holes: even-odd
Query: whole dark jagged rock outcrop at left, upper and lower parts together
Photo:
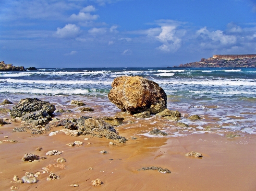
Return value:
<svg viewBox="0 0 256 191">
<path fill-rule="evenodd" d="M 26 98 L 12 108 L 11 117 L 21 117 L 25 125 L 46 125 L 51 121 L 49 114 L 54 111 L 55 105 L 49 101 Z"/>
</svg>

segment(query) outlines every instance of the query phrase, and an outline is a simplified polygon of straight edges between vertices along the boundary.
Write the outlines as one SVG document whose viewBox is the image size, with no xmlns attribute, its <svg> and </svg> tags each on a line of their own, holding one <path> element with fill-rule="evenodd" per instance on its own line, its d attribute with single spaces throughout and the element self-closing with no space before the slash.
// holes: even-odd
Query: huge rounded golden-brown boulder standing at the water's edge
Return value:
<svg viewBox="0 0 256 191">
<path fill-rule="evenodd" d="M 115 78 L 111 86 L 108 97 L 123 111 L 158 113 L 166 109 L 166 93 L 152 80 L 122 76 Z"/>
</svg>

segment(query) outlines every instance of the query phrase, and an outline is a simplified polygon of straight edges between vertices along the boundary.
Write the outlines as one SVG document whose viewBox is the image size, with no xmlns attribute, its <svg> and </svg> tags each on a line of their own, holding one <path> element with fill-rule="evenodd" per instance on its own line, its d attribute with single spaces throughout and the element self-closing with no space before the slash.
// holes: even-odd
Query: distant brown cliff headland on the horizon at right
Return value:
<svg viewBox="0 0 256 191">
<path fill-rule="evenodd" d="M 256 55 L 213 55 L 179 67 L 256 67 Z"/>
</svg>

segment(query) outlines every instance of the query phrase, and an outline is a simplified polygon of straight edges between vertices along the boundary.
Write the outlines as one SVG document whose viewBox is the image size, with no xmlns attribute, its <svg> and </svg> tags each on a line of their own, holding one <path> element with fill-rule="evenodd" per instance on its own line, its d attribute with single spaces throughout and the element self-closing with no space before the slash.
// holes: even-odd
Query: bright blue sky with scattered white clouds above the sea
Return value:
<svg viewBox="0 0 256 191">
<path fill-rule="evenodd" d="M 0 61 L 172 67 L 256 54 L 256 0 L 0 0 Z"/>
</svg>

